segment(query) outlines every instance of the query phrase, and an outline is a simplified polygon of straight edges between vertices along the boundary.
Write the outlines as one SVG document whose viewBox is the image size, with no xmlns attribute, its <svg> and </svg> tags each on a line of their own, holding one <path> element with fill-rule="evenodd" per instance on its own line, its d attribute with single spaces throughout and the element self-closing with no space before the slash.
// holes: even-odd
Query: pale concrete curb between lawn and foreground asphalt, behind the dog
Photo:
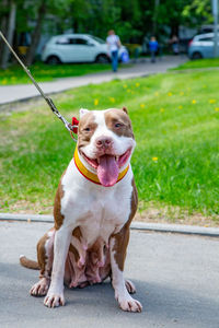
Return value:
<svg viewBox="0 0 219 328">
<path fill-rule="evenodd" d="M 53 223 L 54 218 L 53 215 L 43 214 L 35 215 L 0 213 L 0 221 Z M 132 222 L 130 229 L 146 232 L 176 233 L 186 235 L 219 237 L 219 227 L 206 227 L 197 225 Z"/>
</svg>

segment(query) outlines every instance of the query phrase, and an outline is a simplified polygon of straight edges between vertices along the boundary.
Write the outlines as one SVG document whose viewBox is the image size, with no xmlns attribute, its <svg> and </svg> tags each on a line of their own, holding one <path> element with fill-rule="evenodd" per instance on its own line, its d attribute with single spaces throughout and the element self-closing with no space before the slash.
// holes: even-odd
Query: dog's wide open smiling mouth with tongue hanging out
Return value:
<svg viewBox="0 0 219 328">
<path fill-rule="evenodd" d="M 119 168 L 127 163 L 131 148 L 122 155 L 103 154 L 96 159 L 89 159 L 83 152 L 81 153 L 89 165 L 96 169 L 101 184 L 104 187 L 112 187 L 118 179 Z"/>
</svg>

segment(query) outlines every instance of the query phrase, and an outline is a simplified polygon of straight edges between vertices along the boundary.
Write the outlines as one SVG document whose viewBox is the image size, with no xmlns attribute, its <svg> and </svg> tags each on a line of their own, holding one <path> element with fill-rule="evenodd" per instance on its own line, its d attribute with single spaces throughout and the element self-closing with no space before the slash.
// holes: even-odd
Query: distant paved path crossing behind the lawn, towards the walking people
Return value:
<svg viewBox="0 0 219 328">
<path fill-rule="evenodd" d="M 83 77 L 56 79 L 51 82 L 42 82 L 38 84 L 41 85 L 45 94 L 53 94 L 62 92 L 68 89 L 88 85 L 91 83 L 100 84 L 103 82 L 112 81 L 114 79 L 124 80 L 146 77 L 155 73 L 163 73 L 166 72 L 168 69 L 177 67 L 180 63 L 183 63 L 187 60 L 188 58 L 186 56 L 165 56 L 159 58 L 155 63 L 151 63 L 150 59 L 143 61 L 139 60 L 131 67 L 119 69 L 117 73 L 106 71 L 94 74 L 87 74 Z M 25 74 L 25 72 L 23 73 Z M 33 83 L 0 86 L 0 105 L 11 102 L 24 101 L 36 96 L 39 96 L 39 93 Z"/>
</svg>

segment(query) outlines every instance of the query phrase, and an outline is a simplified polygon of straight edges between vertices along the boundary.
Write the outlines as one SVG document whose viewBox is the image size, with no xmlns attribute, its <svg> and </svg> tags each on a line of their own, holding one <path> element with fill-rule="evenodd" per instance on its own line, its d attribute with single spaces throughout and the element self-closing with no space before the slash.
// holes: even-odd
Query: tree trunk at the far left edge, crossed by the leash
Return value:
<svg viewBox="0 0 219 328">
<path fill-rule="evenodd" d="M 8 39 L 9 44 L 12 45 L 14 27 L 15 27 L 15 20 L 16 20 L 16 4 L 11 1 L 10 2 L 10 13 L 9 13 L 9 23 L 7 27 L 5 38 Z M 2 58 L 1 58 L 1 68 L 7 69 L 8 62 L 10 57 L 10 50 L 7 45 L 3 45 L 2 50 Z"/>
</svg>

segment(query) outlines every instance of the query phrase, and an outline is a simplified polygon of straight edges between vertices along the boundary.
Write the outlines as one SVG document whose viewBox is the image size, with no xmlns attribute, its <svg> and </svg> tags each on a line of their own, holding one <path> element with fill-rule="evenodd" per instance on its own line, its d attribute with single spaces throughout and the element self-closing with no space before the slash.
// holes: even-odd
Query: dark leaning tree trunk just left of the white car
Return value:
<svg viewBox="0 0 219 328">
<path fill-rule="evenodd" d="M 45 3 L 45 1 L 43 1 L 38 8 L 38 17 L 37 17 L 36 26 L 34 28 L 31 46 L 30 46 L 27 55 L 26 55 L 26 65 L 27 66 L 32 65 L 32 62 L 34 61 L 34 56 L 36 52 L 36 48 L 38 46 L 39 38 L 41 38 L 42 25 L 43 25 L 43 20 L 44 20 L 45 14 L 46 14 L 46 3 Z"/>
</svg>

